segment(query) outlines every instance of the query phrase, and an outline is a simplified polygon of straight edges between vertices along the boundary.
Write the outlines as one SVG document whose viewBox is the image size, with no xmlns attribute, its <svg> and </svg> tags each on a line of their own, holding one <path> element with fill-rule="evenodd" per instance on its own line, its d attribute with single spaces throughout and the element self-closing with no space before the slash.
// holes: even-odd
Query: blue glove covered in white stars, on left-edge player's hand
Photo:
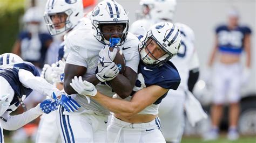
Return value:
<svg viewBox="0 0 256 143">
<path fill-rule="evenodd" d="M 57 110 L 58 106 L 59 104 L 54 99 L 45 99 L 42 103 L 40 103 L 40 109 L 46 114 Z"/>
</svg>

